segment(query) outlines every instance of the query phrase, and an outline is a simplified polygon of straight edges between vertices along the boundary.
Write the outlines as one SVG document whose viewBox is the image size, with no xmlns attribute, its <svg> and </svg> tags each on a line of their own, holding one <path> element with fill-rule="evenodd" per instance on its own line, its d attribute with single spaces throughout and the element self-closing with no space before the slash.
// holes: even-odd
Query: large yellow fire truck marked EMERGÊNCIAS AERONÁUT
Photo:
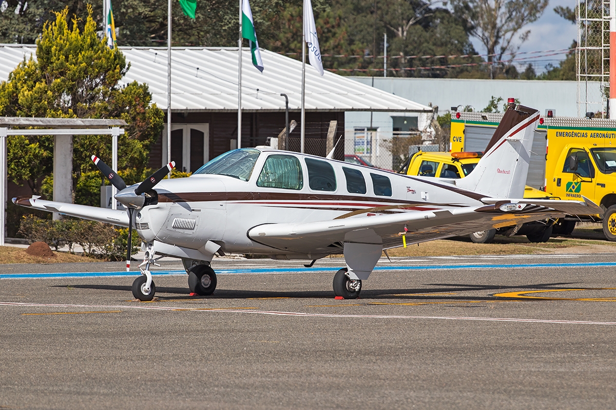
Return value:
<svg viewBox="0 0 616 410">
<path fill-rule="evenodd" d="M 605 210 L 602 219 L 568 215 L 554 232 L 569 234 L 580 220 L 602 221 L 606 238 L 616 241 L 616 120 L 551 117 L 547 111 L 535 130 L 527 185 L 559 199 L 586 197 Z M 483 151 L 502 115 L 454 112 L 451 151 Z"/>
</svg>

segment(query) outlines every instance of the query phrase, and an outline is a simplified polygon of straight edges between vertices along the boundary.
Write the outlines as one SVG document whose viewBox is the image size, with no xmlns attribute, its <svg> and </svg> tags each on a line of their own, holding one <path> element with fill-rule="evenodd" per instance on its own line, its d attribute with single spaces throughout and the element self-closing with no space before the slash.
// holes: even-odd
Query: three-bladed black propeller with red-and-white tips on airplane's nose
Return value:
<svg viewBox="0 0 616 410">
<path fill-rule="evenodd" d="M 126 207 L 128 212 L 128 246 L 126 249 L 126 272 L 131 270 L 131 245 L 132 245 L 132 215 L 136 209 L 140 209 L 145 203 L 145 192 L 150 191 L 161 179 L 164 178 L 171 170 L 176 166 L 175 161 L 169 162 L 169 164 L 160 168 L 152 175 L 150 175 L 145 181 L 139 184 L 136 189 L 132 189 L 132 186 L 126 187 L 124 179 L 107 164 L 102 162 L 99 157 L 93 155 L 92 161 L 94 165 L 99 168 L 103 175 L 107 176 L 113 186 L 118 188 L 118 193 L 115 195 L 115 199 L 122 203 Z"/>
</svg>

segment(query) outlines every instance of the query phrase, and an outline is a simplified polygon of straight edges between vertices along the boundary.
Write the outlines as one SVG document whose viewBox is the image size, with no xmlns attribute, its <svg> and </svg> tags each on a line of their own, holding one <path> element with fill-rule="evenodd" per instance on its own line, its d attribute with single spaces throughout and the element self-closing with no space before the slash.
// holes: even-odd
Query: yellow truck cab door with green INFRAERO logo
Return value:
<svg viewBox="0 0 616 410">
<path fill-rule="evenodd" d="M 594 197 L 596 169 L 585 149 L 569 149 L 556 167 L 553 195 L 572 200 L 581 200 L 582 196 Z"/>
</svg>

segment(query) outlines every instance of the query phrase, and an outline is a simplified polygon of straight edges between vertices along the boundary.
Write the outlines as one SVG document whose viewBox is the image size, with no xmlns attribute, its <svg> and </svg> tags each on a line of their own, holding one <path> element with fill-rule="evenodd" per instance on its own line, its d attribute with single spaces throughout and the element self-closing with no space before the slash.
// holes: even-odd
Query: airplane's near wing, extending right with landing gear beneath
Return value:
<svg viewBox="0 0 616 410">
<path fill-rule="evenodd" d="M 410 245 L 541 219 L 559 218 L 572 211 L 575 211 L 576 215 L 594 215 L 600 209 L 588 200 L 541 200 L 540 205 L 524 203 L 519 206 L 503 199 L 490 199 L 488 202 L 494 203 L 479 207 L 443 207 L 429 211 L 400 210 L 389 214 L 371 213 L 371 216 L 351 215 L 348 218 L 342 216 L 329 221 L 309 223 L 262 224 L 250 229 L 248 237 L 254 242 L 282 251 L 330 254 L 339 253 L 345 239 L 350 238 L 347 234 L 354 231 L 373 231 L 383 240 L 383 248 L 389 249 L 402 246 L 400 234 L 405 231 L 405 226 L 408 229 L 406 242 Z M 506 207 L 506 203 L 511 205 Z"/>
</svg>

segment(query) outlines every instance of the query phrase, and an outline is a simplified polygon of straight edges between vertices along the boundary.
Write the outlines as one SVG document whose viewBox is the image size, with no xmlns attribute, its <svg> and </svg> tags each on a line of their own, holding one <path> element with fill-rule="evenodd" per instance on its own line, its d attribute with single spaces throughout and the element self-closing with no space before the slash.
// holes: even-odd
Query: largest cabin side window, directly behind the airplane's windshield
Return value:
<svg viewBox="0 0 616 410">
<path fill-rule="evenodd" d="M 302 167 L 290 155 L 270 155 L 265 160 L 257 186 L 264 188 L 302 189 Z"/>
</svg>

